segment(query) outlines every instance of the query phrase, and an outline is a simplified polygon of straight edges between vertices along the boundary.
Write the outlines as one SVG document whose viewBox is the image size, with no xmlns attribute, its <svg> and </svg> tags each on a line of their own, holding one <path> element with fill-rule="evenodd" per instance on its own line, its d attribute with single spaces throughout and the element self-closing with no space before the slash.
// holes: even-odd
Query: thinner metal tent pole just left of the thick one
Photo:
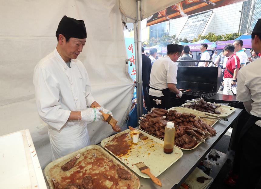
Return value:
<svg viewBox="0 0 261 189">
<path fill-rule="evenodd" d="M 136 20 L 137 21 L 137 20 Z M 135 63 L 135 69 L 136 69 L 136 99 L 137 99 L 137 124 L 139 121 L 139 117 L 141 117 L 141 109 L 140 109 L 140 98 L 139 98 L 139 83 L 137 81 L 140 81 L 139 79 L 139 74 L 138 74 L 138 70 L 139 70 L 139 65 L 138 65 L 138 45 L 137 45 L 137 41 L 138 41 L 138 36 L 137 36 L 137 22 L 133 23 L 133 30 L 134 30 L 134 48 L 135 48 L 135 59 L 136 59 L 136 63 Z"/>
</svg>

